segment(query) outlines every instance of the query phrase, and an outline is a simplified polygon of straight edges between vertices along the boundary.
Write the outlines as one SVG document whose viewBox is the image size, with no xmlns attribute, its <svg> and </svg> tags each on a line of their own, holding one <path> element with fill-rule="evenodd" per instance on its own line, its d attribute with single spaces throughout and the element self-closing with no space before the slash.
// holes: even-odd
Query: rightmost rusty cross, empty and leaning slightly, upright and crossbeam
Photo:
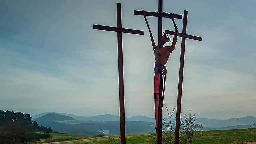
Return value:
<svg viewBox="0 0 256 144">
<path fill-rule="evenodd" d="M 201 37 L 186 34 L 187 18 L 188 18 L 188 11 L 184 10 L 182 33 L 178 33 L 178 36 L 182 37 L 182 39 L 181 39 L 181 52 L 180 52 L 180 72 L 179 72 L 179 84 L 178 84 L 177 112 L 176 112 L 176 124 L 175 124 L 175 142 L 174 142 L 175 144 L 179 144 L 181 96 L 182 96 L 182 83 L 183 83 L 186 38 L 202 41 Z M 166 34 L 174 35 L 174 31 L 165 30 L 164 32 Z"/>
</svg>

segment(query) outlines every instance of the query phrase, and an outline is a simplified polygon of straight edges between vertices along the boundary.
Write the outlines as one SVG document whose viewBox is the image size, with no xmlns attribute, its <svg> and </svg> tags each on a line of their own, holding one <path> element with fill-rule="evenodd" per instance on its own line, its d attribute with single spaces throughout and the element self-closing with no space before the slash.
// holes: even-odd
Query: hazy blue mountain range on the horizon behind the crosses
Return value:
<svg viewBox="0 0 256 144">
<path fill-rule="evenodd" d="M 66 113 L 41 113 L 32 116 L 39 124 L 52 127 L 53 130 L 69 134 L 116 135 L 120 132 L 119 116 L 105 114 L 98 116 L 76 116 Z M 174 119 L 172 119 L 174 120 Z M 247 116 L 216 120 L 200 118 L 200 123 L 205 125 L 205 130 L 242 129 L 250 128 L 256 123 L 256 117 Z M 155 131 L 155 119 L 146 116 L 133 116 L 126 118 L 126 133 L 150 133 Z"/>
</svg>

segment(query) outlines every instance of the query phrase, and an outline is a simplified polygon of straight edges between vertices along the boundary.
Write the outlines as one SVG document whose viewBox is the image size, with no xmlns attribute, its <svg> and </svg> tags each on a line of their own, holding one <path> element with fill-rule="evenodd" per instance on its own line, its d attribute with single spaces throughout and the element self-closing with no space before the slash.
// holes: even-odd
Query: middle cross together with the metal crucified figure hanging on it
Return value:
<svg viewBox="0 0 256 144">
<path fill-rule="evenodd" d="M 174 22 L 174 18 L 182 19 L 182 15 L 163 12 L 163 0 L 158 0 L 158 12 L 144 12 L 144 10 L 142 10 L 142 11 L 134 10 L 134 15 L 144 15 L 147 26 L 148 26 L 148 22 L 146 20 L 146 16 L 158 17 L 158 49 L 157 50 L 159 50 L 159 51 L 160 51 L 160 47 L 162 47 L 169 40 L 169 38 L 166 35 L 162 35 L 163 17 L 171 18 L 173 20 L 174 27 L 176 29 L 176 34 L 177 34 L 178 29 Z M 148 26 L 148 28 L 149 28 L 149 26 Z M 149 29 L 149 32 L 150 32 L 152 45 L 154 48 L 155 44 L 154 44 L 153 36 L 151 34 L 150 29 Z M 173 42 L 175 41 L 175 37 L 177 39 L 177 35 L 174 36 Z M 176 41 L 175 41 L 175 43 L 172 44 L 170 49 L 167 49 L 168 55 L 166 57 L 162 57 L 164 61 L 167 62 L 170 52 L 174 49 L 175 44 L 176 44 Z M 164 50 L 163 48 L 161 48 L 161 49 Z M 155 51 L 154 51 L 154 53 L 155 53 Z M 161 51 L 160 51 L 160 53 L 161 53 Z M 158 55 L 159 55 L 159 59 L 160 59 L 161 54 L 158 54 Z M 156 54 L 155 54 L 155 57 L 157 57 Z M 156 59 L 156 61 L 157 61 L 157 59 Z M 164 88 L 163 87 L 165 87 L 165 78 L 166 78 L 165 74 L 167 72 L 166 67 L 163 64 L 166 64 L 166 62 L 164 62 L 164 63 L 160 62 L 160 64 L 155 63 L 154 99 L 155 99 L 156 132 L 157 132 L 157 143 L 158 144 L 162 144 L 162 105 L 163 105 L 163 96 L 164 96 Z M 164 79 L 162 77 L 163 75 L 164 75 Z M 163 81 L 164 81 L 164 85 L 163 85 Z"/>
</svg>

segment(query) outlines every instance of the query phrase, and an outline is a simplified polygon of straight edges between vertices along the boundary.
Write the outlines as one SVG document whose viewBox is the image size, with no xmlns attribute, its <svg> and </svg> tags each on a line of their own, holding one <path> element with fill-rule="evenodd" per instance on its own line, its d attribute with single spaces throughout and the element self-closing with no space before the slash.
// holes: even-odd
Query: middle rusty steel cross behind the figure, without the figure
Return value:
<svg viewBox="0 0 256 144">
<path fill-rule="evenodd" d="M 134 15 L 143 15 L 142 11 L 134 10 Z M 158 12 L 147 12 L 145 11 L 146 16 L 154 16 L 158 17 L 158 43 L 162 38 L 163 33 L 163 18 L 176 18 L 182 19 L 182 15 L 179 14 L 171 14 L 171 13 L 163 13 L 163 0 L 158 0 Z M 158 129 L 157 129 L 157 144 L 162 144 L 162 110 L 161 110 L 161 102 L 162 102 L 162 75 L 160 74 L 160 82 L 159 82 L 159 107 L 158 107 Z"/>
</svg>

